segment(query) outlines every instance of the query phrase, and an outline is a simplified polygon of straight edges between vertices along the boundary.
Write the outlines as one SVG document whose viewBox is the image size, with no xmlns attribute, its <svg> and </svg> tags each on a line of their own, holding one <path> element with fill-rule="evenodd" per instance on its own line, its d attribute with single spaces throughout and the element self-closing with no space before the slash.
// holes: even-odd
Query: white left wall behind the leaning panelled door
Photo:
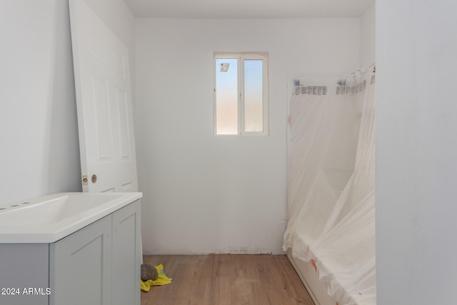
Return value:
<svg viewBox="0 0 457 305">
<path fill-rule="evenodd" d="M 89 4 L 134 56 L 122 0 Z M 0 202 L 81 191 L 67 0 L 0 1 Z"/>
</svg>

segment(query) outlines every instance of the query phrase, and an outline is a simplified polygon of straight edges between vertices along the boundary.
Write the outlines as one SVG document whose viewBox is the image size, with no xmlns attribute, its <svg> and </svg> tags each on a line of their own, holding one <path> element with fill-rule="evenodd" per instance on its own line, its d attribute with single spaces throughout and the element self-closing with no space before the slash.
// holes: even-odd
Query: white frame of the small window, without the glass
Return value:
<svg viewBox="0 0 457 305">
<path fill-rule="evenodd" d="M 238 59 L 238 134 L 217 134 L 216 124 L 216 59 Z M 244 60 L 258 59 L 263 63 L 263 131 L 244 131 Z M 268 52 L 214 52 L 214 135 L 215 136 L 268 136 Z"/>
</svg>

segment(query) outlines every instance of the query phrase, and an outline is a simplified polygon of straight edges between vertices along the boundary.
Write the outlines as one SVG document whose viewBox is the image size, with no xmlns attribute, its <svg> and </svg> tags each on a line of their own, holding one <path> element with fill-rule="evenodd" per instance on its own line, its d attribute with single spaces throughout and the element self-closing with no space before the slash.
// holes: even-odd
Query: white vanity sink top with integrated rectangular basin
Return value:
<svg viewBox="0 0 457 305">
<path fill-rule="evenodd" d="M 0 243 L 52 243 L 142 196 L 141 193 L 60 193 L 0 204 Z"/>
</svg>

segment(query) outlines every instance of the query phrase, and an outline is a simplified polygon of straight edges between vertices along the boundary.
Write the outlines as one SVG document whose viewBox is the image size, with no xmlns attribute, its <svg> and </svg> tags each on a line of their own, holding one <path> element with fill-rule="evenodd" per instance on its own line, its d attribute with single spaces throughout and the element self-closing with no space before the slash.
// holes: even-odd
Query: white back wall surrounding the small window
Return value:
<svg viewBox="0 0 457 305">
<path fill-rule="evenodd" d="M 288 75 L 358 69 L 359 24 L 137 19 L 136 144 L 146 254 L 282 253 Z M 269 52 L 269 136 L 213 135 L 214 51 Z"/>
</svg>

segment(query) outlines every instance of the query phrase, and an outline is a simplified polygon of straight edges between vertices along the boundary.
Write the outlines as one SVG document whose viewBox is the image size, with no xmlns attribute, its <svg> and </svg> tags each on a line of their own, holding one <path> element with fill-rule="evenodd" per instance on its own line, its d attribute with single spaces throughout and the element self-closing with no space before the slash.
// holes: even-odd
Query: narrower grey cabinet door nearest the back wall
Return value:
<svg viewBox="0 0 457 305">
<path fill-rule="evenodd" d="M 113 304 L 140 304 L 140 201 L 113 213 Z"/>
</svg>

